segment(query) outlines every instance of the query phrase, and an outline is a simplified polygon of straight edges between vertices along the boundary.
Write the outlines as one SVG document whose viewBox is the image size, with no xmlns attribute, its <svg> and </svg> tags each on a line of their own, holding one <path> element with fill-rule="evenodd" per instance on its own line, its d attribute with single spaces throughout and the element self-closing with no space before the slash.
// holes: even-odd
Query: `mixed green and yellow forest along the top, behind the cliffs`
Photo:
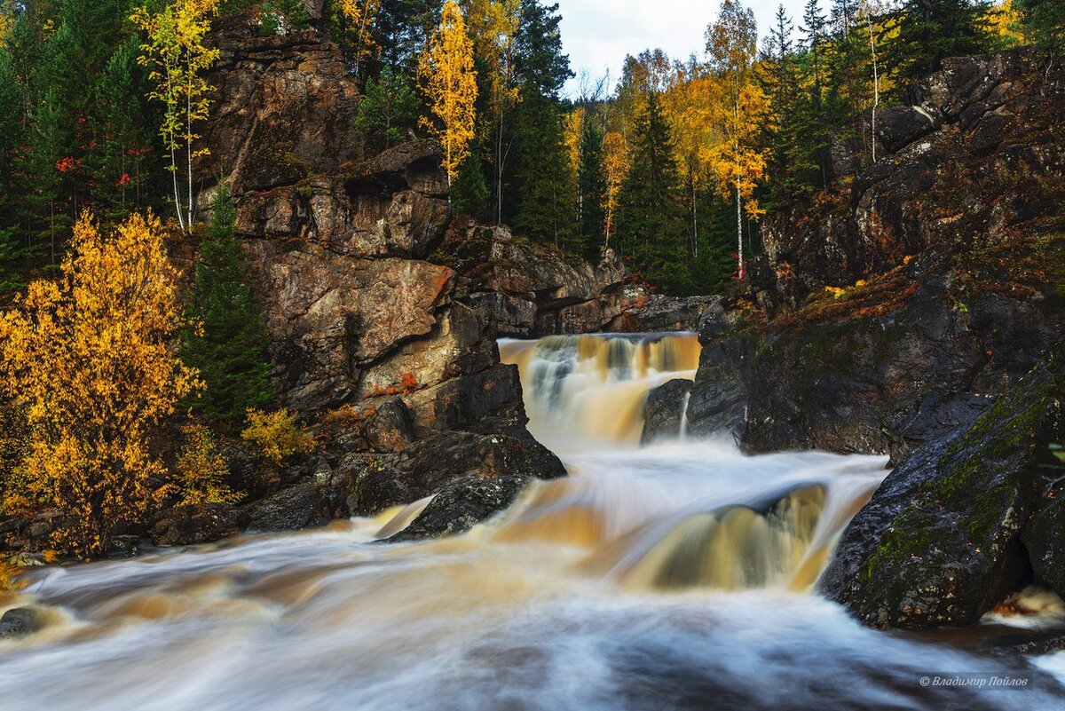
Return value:
<svg viewBox="0 0 1065 711">
<path fill-rule="evenodd" d="M 302 4 L 5 0 L 0 15 L 0 264 L 10 291 L 54 272 L 80 212 L 153 209 L 181 229 L 208 119 L 211 22 L 251 12 L 298 31 Z M 1038 44 L 1059 59 L 1050 0 L 810 0 L 769 28 L 722 2 L 703 51 L 649 48 L 575 96 L 557 4 L 343 0 L 323 22 L 361 81 L 358 120 L 384 147 L 446 148 L 456 211 L 596 260 L 612 247 L 672 294 L 746 278 L 766 210 L 834 179 L 833 143 L 875 163 L 878 112 L 944 57 Z M 760 36 L 759 36 L 760 34 Z"/>
</svg>

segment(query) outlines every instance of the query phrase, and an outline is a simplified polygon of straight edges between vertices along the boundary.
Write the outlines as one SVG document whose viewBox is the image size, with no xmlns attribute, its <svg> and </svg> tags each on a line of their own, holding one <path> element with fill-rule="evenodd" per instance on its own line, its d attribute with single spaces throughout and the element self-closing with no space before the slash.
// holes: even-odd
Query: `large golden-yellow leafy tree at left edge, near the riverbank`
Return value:
<svg viewBox="0 0 1065 711">
<path fill-rule="evenodd" d="M 29 426 L 4 503 L 59 511 L 56 546 L 88 558 L 166 494 L 149 436 L 200 383 L 171 349 L 179 272 L 159 220 L 101 234 L 86 212 L 70 246 L 62 278 L 32 282 L 0 316 L 0 386 Z"/>
</svg>

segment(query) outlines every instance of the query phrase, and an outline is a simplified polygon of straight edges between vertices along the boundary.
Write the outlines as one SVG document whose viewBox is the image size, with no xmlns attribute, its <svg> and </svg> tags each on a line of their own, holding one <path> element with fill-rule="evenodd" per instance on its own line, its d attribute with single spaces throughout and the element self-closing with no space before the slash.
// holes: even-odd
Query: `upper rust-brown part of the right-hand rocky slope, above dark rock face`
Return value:
<svg viewBox="0 0 1065 711">
<path fill-rule="evenodd" d="M 815 199 L 767 217 L 785 302 L 846 286 L 928 249 L 967 252 L 1065 231 L 1065 82 L 1029 50 L 946 60 L 878 114 L 878 162 L 839 161 Z"/>
</svg>

